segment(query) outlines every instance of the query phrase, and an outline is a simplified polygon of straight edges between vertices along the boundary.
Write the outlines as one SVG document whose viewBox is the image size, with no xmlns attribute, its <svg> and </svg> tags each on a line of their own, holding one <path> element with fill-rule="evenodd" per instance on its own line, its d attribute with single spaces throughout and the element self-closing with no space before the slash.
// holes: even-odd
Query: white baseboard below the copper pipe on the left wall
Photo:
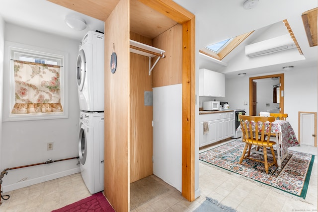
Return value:
<svg viewBox="0 0 318 212">
<path fill-rule="evenodd" d="M 66 171 L 61 171 L 61 172 L 58 172 L 58 173 L 45 175 L 45 176 L 42 176 L 42 177 L 30 179 L 30 180 L 25 180 L 25 181 L 22 181 L 22 182 L 9 184 L 9 185 L 6 185 L 6 186 L 2 186 L 3 193 L 9 192 L 9 191 L 13 191 L 13 190 L 16 190 L 16 189 L 20 189 L 20 188 L 24 188 L 24 187 L 27 187 L 27 186 L 31 186 L 31 185 L 34 185 L 34 184 L 43 183 L 43 182 L 46 182 L 46 181 L 49 181 L 49 180 L 54 180 L 54 179 L 57 179 L 57 178 L 60 178 L 60 177 L 65 177 L 65 176 L 68 176 L 68 175 L 71 175 L 71 174 L 76 174 L 76 173 L 79 173 L 79 172 L 80 172 L 80 169 L 78 167 L 78 168 L 73 168 L 73 169 L 69 169 L 69 170 L 66 170 Z"/>
</svg>

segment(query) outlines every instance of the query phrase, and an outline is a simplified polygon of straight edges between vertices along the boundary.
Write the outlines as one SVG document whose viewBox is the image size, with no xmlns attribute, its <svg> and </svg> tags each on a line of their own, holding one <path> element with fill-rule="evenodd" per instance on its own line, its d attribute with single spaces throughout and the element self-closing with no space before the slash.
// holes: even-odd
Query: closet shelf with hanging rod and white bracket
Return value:
<svg viewBox="0 0 318 212">
<path fill-rule="evenodd" d="M 149 75 L 151 75 L 151 71 L 155 68 L 160 58 L 164 58 L 165 51 L 162 49 L 158 49 L 156 47 L 152 47 L 137 41 L 129 40 L 130 41 L 130 52 L 136 53 L 139 55 L 143 55 L 149 57 Z M 151 67 L 151 59 L 153 57 L 158 56 L 156 62 Z"/>
</svg>

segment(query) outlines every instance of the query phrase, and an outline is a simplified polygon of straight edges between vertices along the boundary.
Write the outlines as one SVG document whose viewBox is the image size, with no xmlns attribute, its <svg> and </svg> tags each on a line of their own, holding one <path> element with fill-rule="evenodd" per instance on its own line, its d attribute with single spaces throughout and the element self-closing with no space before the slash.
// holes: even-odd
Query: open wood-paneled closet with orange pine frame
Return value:
<svg viewBox="0 0 318 212">
<path fill-rule="evenodd" d="M 169 143 L 165 149 L 158 150 L 153 129 L 156 131 L 156 120 L 153 119 L 153 108 L 157 106 L 163 117 L 168 117 L 169 106 L 153 105 L 149 100 L 153 89 L 179 86 L 178 93 L 179 120 L 176 121 L 178 132 L 179 190 L 189 201 L 194 200 L 194 110 L 195 110 L 195 44 L 194 15 L 180 7 L 172 0 L 97 0 L 84 5 L 58 1 L 60 5 L 79 11 L 86 15 L 105 21 L 105 170 L 104 194 L 118 212 L 129 211 L 130 183 L 152 175 L 157 166 L 163 172 L 174 161 L 156 165 L 158 160 L 169 156 Z M 106 5 L 107 4 L 107 5 Z M 154 9 L 155 8 L 155 9 Z M 108 12 L 110 9 L 110 13 Z M 132 53 L 134 41 L 149 47 L 164 50 L 165 57 Z M 146 48 L 147 50 L 147 48 Z M 149 51 L 149 50 L 148 50 Z M 143 51 L 147 53 L 147 51 Z M 153 54 L 155 51 L 150 51 Z M 111 70 L 111 57 L 117 56 L 116 69 Z M 148 52 L 149 53 L 149 52 Z M 156 61 L 157 64 L 154 66 Z M 149 65 L 149 63 L 151 63 Z M 154 68 L 153 68 L 154 67 Z M 114 68 L 114 67 L 112 67 Z M 152 69 L 153 68 L 153 69 Z M 149 72 L 151 73 L 149 75 Z M 170 88 L 170 87 L 169 87 Z M 173 92 L 175 91 L 174 88 Z M 169 90 L 165 91 L 169 94 Z M 162 94 L 161 94 L 162 95 Z M 162 103 L 165 102 L 164 95 Z M 155 94 L 153 96 L 155 101 Z M 172 102 L 172 101 L 171 101 Z M 154 103 L 155 104 L 155 103 Z M 165 107 L 161 110 L 160 107 Z M 171 108 L 172 110 L 173 108 Z M 172 114 L 173 115 L 173 114 Z M 154 122 L 153 122 L 154 120 Z M 161 126 L 175 124 L 163 120 Z M 152 126 L 154 124 L 154 127 Z M 159 132 L 160 134 L 160 129 Z M 162 131 L 161 139 L 169 138 Z M 161 140 L 162 141 L 162 140 Z M 158 142 L 161 142 L 160 139 Z M 161 143 L 159 143 L 161 144 Z M 171 145 L 173 145 L 171 143 Z M 157 151 L 156 151 L 157 150 Z M 155 157 L 159 155 L 156 161 Z M 169 153 L 171 154 L 171 152 Z M 161 156 L 160 156 L 161 155 Z M 170 155 L 173 157 L 173 155 Z M 161 172 L 162 170 L 159 170 Z M 156 174 L 156 173 L 155 173 Z M 160 175 L 160 173 L 159 173 Z M 171 174 L 170 175 L 174 175 Z M 165 173 L 164 179 L 169 177 Z M 170 182 L 168 182 L 170 183 Z"/>
</svg>

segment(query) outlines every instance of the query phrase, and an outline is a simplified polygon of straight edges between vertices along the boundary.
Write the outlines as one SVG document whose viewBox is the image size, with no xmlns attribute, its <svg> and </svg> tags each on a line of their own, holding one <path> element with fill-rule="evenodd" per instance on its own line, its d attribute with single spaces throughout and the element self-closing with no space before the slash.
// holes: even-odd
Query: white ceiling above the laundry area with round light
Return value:
<svg viewBox="0 0 318 212">
<path fill-rule="evenodd" d="M 65 23 L 65 16 L 79 15 L 86 29 L 75 31 Z M 89 30 L 104 32 L 104 22 L 47 0 L 0 0 L 0 15 L 5 22 L 81 40 Z"/>
</svg>

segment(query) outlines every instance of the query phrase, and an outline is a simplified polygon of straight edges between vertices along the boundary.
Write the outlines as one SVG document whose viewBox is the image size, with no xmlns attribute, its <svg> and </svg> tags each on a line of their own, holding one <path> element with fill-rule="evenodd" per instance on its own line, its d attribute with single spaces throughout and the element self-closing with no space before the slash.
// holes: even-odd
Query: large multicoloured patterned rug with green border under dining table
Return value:
<svg viewBox="0 0 318 212">
<path fill-rule="evenodd" d="M 266 174 L 263 163 L 244 159 L 239 164 L 244 144 L 235 140 L 200 153 L 199 159 L 289 194 L 306 198 L 315 155 L 288 150 L 289 155 L 282 162 L 282 169 L 271 166 Z M 255 153 L 255 157 L 257 156 L 259 154 Z"/>
</svg>

